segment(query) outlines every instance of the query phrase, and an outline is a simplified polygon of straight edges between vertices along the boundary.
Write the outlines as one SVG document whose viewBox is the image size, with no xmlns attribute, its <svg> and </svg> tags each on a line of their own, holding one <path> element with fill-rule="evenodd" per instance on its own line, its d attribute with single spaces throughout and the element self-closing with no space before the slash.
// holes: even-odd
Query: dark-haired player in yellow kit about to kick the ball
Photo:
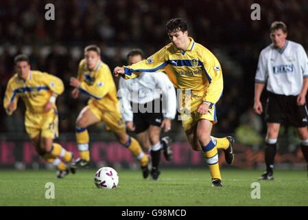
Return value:
<svg viewBox="0 0 308 220">
<path fill-rule="evenodd" d="M 114 74 L 134 78 L 139 72 L 163 69 L 174 86 L 182 89 L 180 104 L 182 126 L 195 151 L 203 155 L 211 171 L 212 186 L 222 186 L 217 148 L 222 148 L 227 164 L 232 164 L 233 137 L 211 136 L 217 122 L 216 102 L 222 96 L 222 69 L 217 58 L 188 36 L 187 23 L 180 18 L 166 24 L 171 43 L 145 61 L 127 67 L 115 67 Z"/>
</svg>

